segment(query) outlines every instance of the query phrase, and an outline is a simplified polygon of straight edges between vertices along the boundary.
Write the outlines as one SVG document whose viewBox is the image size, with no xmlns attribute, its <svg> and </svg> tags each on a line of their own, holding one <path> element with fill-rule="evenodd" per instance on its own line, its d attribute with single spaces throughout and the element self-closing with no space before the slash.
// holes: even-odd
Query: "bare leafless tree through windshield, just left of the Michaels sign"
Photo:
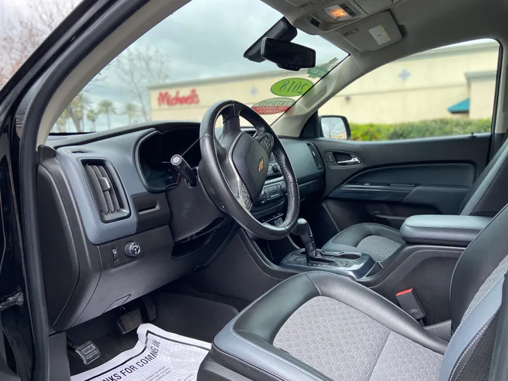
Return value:
<svg viewBox="0 0 508 381">
<path fill-rule="evenodd" d="M 154 47 L 128 47 L 111 62 L 126 92 L 139 105 L 144 121 L 150 121 L 150 97 L 148 87 L 167 82 L 169 57 Z"/>
</svg>

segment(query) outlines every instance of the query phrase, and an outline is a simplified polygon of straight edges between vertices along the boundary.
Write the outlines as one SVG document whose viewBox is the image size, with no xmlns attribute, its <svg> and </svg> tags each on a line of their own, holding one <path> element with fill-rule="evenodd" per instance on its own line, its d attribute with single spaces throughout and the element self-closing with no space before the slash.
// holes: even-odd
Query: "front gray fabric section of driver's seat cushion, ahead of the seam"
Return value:
<svg viewBox="0 0 508 381">
<path fill-rule="evenodd" d="M 389 332 L 364 313 L 317 296 L 286 320 L 273 344 L 332 380 L 363 381 L 372 373 Z"/>
</svg>

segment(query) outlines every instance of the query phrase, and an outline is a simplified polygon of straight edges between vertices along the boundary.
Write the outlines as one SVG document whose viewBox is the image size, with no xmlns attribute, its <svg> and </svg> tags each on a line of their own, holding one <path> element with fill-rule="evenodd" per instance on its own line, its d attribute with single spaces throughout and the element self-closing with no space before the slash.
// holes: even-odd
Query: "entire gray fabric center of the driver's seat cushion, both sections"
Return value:
<svg viewBox="0 0 508 381">
<path fill-rule="evenodd" d="M 437 380 L 442 361 L 441 354 L 325 296 L 298 308 L 273 344 L 335 381 Z"/>
</svg>

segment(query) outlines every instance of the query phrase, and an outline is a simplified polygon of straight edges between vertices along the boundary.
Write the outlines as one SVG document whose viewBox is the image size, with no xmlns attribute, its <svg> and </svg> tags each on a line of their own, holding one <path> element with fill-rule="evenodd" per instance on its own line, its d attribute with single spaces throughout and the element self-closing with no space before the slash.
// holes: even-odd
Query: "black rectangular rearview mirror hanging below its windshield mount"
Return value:
<svg viewBox="0 0 508 381">
<path fill-rule="evenodd" d="M 261 56 L 286 70 L 298 71 L 315 66 L 314 49 L 270 37 L 262 39 Z"/>
</svg>

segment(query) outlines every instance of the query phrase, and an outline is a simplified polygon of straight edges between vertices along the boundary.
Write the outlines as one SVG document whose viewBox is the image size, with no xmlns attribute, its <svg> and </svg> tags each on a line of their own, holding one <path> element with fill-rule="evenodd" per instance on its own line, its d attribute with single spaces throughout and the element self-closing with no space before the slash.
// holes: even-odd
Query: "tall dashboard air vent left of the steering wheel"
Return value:
<svg viewBox="0 0 508 381">
<path fill-rule="evenodd" d="M 86 160 L 83 168 L 102 221 L 113 222 L 128 217 L 126 195 L 113 165 L 106 160 Z"/>
</svg>

